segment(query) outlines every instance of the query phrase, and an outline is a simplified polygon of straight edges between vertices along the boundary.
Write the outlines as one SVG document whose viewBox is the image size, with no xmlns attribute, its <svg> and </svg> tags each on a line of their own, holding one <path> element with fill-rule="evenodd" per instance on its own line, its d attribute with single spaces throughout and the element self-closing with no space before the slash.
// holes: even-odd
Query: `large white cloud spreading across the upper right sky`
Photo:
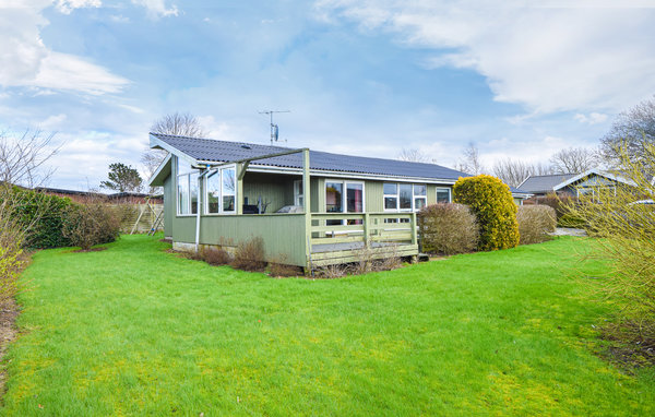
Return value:
<svg viewBox="0 0 655 417">
<path fill-rule="evenodd" d="M 655 91 L 652 1 L 526 4 L 321 0 L 317 8 L 321 17 L 331 13 L 365 31 L 394 34 L 409 47 L 432 49 L 433 68 L 475 70 L 496 100 L 537 112 L 614 111 Z"/>
</svg>

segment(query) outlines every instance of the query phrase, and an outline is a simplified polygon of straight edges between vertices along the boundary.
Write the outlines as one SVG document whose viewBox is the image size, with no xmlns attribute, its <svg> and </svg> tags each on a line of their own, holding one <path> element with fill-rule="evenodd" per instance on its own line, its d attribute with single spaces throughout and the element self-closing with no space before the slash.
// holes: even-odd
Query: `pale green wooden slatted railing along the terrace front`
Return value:
<svg viewBox="0 0 655 417">
<path fill-rule="evenodd" d="M 312 213 L 311 245 L 416 245 L 416 213 Z"/>
</svg>

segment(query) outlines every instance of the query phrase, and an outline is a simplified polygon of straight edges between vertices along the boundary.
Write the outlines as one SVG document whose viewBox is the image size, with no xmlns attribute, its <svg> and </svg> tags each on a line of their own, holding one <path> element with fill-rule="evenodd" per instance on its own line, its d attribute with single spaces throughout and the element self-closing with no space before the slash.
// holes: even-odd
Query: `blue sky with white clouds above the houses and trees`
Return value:
<svg viewBox="0 0 655 417">
<path fill-rule="evenodd" d="M 655 0 L 0 0 L 0 132 L 56 132 L 48 186 L 210 138 L 454 166 L 594 147 L 655 94 Z"/>
</svg>

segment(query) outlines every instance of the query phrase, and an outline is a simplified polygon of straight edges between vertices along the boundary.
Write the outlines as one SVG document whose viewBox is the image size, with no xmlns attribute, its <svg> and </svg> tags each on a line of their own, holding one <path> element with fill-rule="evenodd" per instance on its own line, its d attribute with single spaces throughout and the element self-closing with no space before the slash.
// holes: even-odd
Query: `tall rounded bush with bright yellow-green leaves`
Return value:
<svg viewBox="0 0 655 417">
<path fill-rule="evenodd" d="M 510 188 L 488 175 L 460 178 L 453 186 L 455 202 L 475 214 L 480 230 L 479 250 L 514 248 L 519 245 L 516 204 Z"/>
</svg>

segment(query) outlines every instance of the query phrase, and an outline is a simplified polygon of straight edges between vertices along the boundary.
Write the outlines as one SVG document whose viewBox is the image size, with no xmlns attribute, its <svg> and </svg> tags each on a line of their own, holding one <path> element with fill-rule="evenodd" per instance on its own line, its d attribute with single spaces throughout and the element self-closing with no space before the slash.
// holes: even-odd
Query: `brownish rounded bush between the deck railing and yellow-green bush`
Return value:
<svg viewBox="0 0 655 417">
<path fill-rule="evenodd" d="M 418 212 L 421 251 L 456 254 L 477 248 L 478 227 L 475 215 L 463 204 L 439 203 Z"/>
</svg>

